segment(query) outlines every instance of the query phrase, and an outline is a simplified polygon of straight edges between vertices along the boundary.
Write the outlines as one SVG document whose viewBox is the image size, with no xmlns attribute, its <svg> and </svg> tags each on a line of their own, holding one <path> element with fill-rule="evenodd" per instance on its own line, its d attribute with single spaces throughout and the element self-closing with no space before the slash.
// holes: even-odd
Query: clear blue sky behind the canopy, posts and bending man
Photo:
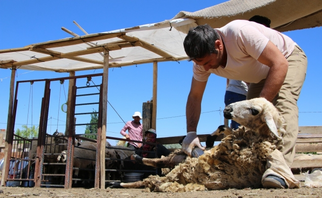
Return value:
<svg viewBox="0 0 322 198">
<path fill-rule="evenodd" d="M 73 23 L 77 21 L 89 34 L 133 27 L 148 23 L 171 19 L 179 11 L 197 11 L 225 0 L 193 1 L 193 0 L 70 0 L 70 1 L 12 1 L 1 0 L 0 12 L 0 49 L 19 48 L 30 44 L 71 37 L 61 30 L 65 27 L 76 34 L 83 35 Z M 122 2 L 122 3 L 120 3 Z M 298 101 L 299 126 L 322 125 L 322 88 L 320 76 L 322 73 L 322 28 L 312 28 L 284 33 L 292 38 L 308 56 L 306 80 Z M 179 136 L 186 133 L 185 105 L 192 79 L 192 62 L 160 62 L 158 64 L 158 137 Z M 28 72 L 28 73 L 26 73 Z M 102 70 L 87 70 L 76 72 L 76 75 L 101 73 Z M 0 129 L 6 129 L 9 83 L 11 70 L 0 69 Z M 16 81 L 67 77 L 69 73 L 45 71 L 17 70 Z M 108 100 L 126 122 L 131 120 L 134 111 L 142 112 L 142 103 L 152 98 L 153 65 L 142 64 L 111 68 L 109 71 Z M 6 78 L 9 77 L 9 78 Z M 95 84 L 99 78 L 93 78 Z M 85 86 L 86 81 L 78 81 L 77 86 Z M 198 134 L 208 134 L 223 124 L 226 79 L 211 75 L 202 100 L 201 118 Z M 33 106 L 29 102 L 30 84 L 19 85 L 18 111 L 15 129 L 21 125 L 39 125 L 40 103 L 43 97 L 43 83 L 33 85 Z M 48 114 L 47 133 L 56 129 L 65 131 L 66 113 L 60 110 L 60 105 L 66 102 L 68 81 L 64 87 L 59 82 L 52 83 L 50 107 Z M 60 93 L 60 97 L 59 97 Z M 92 90 L 95 93 L 95 89 Z M 80 99 L 94 101 L 95 97 Z M 28 113 L 29 106 L 29 113 Z M 77 112 L 90 112 L 95 105 L 81 107 Z M 59 114 L 59 116 L 58 116 Z M 107 136 L 121 137 L 120 130 L 124 126 L 118 114 L 108 105 Z M 28 120 L 27 120 L 28 117 Z M 168 118 L 173 117 L 173 118 Z M 164 119 L 162 119 L 164 118 Z M 57 119 L 59 120 L 57 122 Z M 78 116 L 77 123 L 89 122 L 90 116 Z M 84 133 L 85 128 L 78 126 L 76 132 Z M 113 144 L 113 141 L 111 142 Z"/>
</svg>

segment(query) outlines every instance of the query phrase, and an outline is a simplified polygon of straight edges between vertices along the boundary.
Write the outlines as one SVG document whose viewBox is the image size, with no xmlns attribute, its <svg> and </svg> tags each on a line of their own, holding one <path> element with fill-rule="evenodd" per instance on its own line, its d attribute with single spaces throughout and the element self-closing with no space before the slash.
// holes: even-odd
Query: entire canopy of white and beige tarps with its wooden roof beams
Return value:
<svg viewBox="0 0 322 198">
<path fill-rule="evenodd" d="M 322 0 L 230 0 L 196 12 L 182 11 L 160 23 L 2 49 L 0 68 L 98 69 L 103 67 L 103 48 L 110 50 L 110 67 L 184 60 L 183 40 L 189 28 L 205 23 L 218 28 L 253 15 L 270 18 L 271 28 L 281 32 L 318 27 L 322 25 Z"/>
</svg>

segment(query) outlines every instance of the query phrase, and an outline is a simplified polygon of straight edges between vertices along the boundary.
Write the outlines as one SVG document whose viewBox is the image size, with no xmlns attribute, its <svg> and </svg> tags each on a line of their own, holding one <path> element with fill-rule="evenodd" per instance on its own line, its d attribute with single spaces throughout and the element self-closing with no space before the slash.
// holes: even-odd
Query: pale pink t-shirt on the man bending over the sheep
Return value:
<svg viewBox="0 0 322 198">
<path fill-rule="evenodd" d="M 267 77 L 269 71 L 268 66 L 257 61 L 268 41 L 280 49 L 285 58 L 295 45 L 286 35 L 251 21 L 235 20 L 215 30 L 224 41 L 227 65 L 205 71 L 203 66 L 194 63 L 194 78 L 198 81 L 207 81 L 210 73 L 214 73 L 228 79 L 258 83 Z"/>
</svg>

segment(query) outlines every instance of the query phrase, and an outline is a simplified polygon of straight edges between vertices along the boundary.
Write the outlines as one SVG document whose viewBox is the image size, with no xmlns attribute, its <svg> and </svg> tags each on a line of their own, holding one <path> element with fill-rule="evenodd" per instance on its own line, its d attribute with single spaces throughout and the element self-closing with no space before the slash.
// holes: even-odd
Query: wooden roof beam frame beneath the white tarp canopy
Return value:
<svg viewBox="0 0 322 198">
<path fill-rule="evenodd" d="M 92 41 L 98 41 L 98 40 L 104 40 L 104 39 L 110 39 L 118 37 L 122 40 L 111 42 L 108 44 L 103 45 L 97 45 L 97 46 L 91 46 L 87 49 L 80 50 L 80 51 L 73 51 L 69 53 L 61 53 L 58 51 L 46 49 L 46 48 L 56 48 L 56 47 L 64 47 L 64 46 L 71 46 L 71 45 L 77 45 Z M 15 49 L 3 49 L 0 50 L 0 53 L 6 53 L 6 52 L 17 52 L 17 51 L 25 51 L 25 50 L 31 50 L 36 51 L 39 53 L 49 54 L 50 56 L 29 59 L 24 61 L 12 61 L 12 60 L 3 60 L 0 62 L 0 68 L 6 69 L 10 68 L 12 66 L 22 66 L 22 65 L 32 65 L 40 62 L 46 62 L 51 60 L 57 60 L 61 58 L 68 58 L 72 60 L 77 60 L 81 62 L 88 62 L 97 64 L 97 66 L 87 67 L 87 68 L 80 68 L 80 69 L 53 69 L 53 68 L 45 68 L 41 66 L 33 65 L 34 67 L 39 67 L 41 69 L 47 69 L 51 71 L 56 72 L 70 72 L 70 71 L 83 71 L 83 70 L 90 70 L 90 69 L 101 69 L 103 68 L 103 61 L 100 60 L 93 60 L 89 58 L 83 58 L 79 57 L 80 55 L 86 55 L 86 54 L 92 54 L 92 53 L 101 53 L 103 51 L 102 47 L 107 48 L 109 51 L 112 50 L 119 50 L 122 48 L 128 48 L 128 47 L 136 47 L 140 46 L 144 49 L 147 49 L 151 52 L 154 52 L 160 56 L 161 58 L 152 58 L 152 59 L 146 59 L 146 60 L 138 60 L 138 61 L 131 61 L 131 62 L 125 62 L 125 63 L 117 63 L 117 62 L 111 62 L 109 63 L 109 67 L 122 67 L 122 66 L 129 66 L 129 65 L 135 65 L 135 64 L 145 64 L 145 63 L 151 63 L 154 61 L 163 62 L 163 61 L 178 61 L 178 60 L 185 60 L 188 57 L 179 57 L 176 58 L 169 53 L 159 49 L 158 47 L 154 46 L 153 44 L 149 44 L 145 41 L 142 41 L 136 37 L 130 37 L 125 35 L 125 33 L 98 33 L 98 34 L 91 34 L 91 35 L 85 35 L 85 36 L 79 36 L 79 37 L 73 37 L 73 38 L 66 38 L 56 41 L 49 41 L 44 43 L 38 43 L 29 45 L 23 48 L 15 48 Z"/>
</svg>

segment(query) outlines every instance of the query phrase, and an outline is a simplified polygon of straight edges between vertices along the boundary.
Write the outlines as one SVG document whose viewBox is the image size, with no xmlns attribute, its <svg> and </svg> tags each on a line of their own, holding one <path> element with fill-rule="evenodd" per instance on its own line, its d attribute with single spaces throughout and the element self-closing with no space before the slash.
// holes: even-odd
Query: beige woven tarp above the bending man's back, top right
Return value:
<svg viewBox="0 0 322 198">
<path fill-rule="evenodd" d="M 286 32 L 322 26 L 322 0 L 230 0 L 196 12 L 179 12 L 175 18 L 192 18 L 198 25 L 220 28 L 254 15 L 266 16 L 271 28 Z"/>
</svg>

